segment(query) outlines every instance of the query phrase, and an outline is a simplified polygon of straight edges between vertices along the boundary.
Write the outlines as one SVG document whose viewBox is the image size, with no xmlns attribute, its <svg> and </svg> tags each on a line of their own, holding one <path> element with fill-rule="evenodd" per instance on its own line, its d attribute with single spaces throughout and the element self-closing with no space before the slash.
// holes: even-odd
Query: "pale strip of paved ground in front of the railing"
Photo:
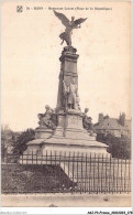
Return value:
<svg viewBox="0 0 133 215">
<path fill-rule="evenodd" d="M 131 194 L 2 194 L 3 207 L 131 207 Z"/>
</svg>

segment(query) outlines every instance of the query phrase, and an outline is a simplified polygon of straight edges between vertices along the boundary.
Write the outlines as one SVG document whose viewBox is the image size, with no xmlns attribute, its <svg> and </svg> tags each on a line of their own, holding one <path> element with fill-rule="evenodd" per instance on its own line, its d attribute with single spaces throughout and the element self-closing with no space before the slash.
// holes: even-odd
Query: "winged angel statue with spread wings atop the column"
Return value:
<svg viewBox="0 0 133 215">
<path fill-rule="evenodd" d="M 66 26 L 65 32 L 63 32 L 59 37 L 63 40 L 62 44 L 64 41 L 66 41 L 67 45 L 71 46 L 71 34 L 73 34 L 73 29 L 79 29 L 80 24 L 87 20 L 86 19 L 78 19 L 75 20 L 75 17 L 71 17 L 71 21 L 69 21 L 66 15 L 63 13 L 58 13 L 54 10 L 55 15 L 62 21 L 62 23 Z"/>
</svg>

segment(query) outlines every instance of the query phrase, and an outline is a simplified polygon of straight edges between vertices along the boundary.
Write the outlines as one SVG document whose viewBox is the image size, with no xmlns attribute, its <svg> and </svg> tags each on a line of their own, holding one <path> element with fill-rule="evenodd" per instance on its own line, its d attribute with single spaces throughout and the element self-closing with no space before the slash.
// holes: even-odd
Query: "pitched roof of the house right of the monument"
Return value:
<svg viewBox="0 0 133 215">
<path fill-rule="evenodd" d="M 109 129 L 109 130 L 128 130 L 121 126 L 114 118 L 106 118 L 102 121 L 95 125 L 95 129 Z"/>
</svg>

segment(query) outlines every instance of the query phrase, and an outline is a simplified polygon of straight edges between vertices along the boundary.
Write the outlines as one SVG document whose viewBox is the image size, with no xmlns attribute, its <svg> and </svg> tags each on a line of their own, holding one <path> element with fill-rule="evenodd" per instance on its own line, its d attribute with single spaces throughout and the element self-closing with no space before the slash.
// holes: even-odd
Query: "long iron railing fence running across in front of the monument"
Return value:
<svg viewBox="0 0 133 215">
<path fill-rule="evenodd" d="M 2 193 L 130 193 L 131 160 L 104 154 L 45 151 L 8 154 Z"/>
</svg>

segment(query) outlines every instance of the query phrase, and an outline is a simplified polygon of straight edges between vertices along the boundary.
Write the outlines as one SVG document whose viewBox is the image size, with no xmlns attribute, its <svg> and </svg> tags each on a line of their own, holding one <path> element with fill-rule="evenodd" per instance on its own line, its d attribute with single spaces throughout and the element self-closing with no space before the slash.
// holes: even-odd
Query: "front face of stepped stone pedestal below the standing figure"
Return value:
<svg viewBox="0 0 133 215">
<path fill-rule="evenodd" d="M 82 128 L 80 112 L 68 110 L 66 114 L 58 114 L 58 126 L 52 138 L 46 139 L 42 150 L 79 151 L 88 153 L 107 154 L 107 146 L 96 141 L 87 130 Z"/>
</svg>

